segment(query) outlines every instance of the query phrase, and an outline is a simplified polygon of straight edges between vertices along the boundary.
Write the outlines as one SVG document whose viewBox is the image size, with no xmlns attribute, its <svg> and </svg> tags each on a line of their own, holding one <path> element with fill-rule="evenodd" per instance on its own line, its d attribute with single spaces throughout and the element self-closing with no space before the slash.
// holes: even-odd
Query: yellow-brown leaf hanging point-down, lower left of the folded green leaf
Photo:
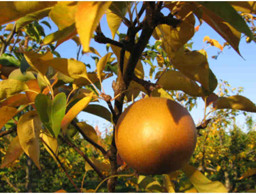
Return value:
<svg viewBox="0 0 256 194">
<path fill-rule="evenodd" d="M 41 171 L 39 164 L 39 134 L 42 122 L 36 111 L 29 111 L 23 114 L 18 121 L 17 134 L 19 143 L 24 152 L 32 159 L 38 169 Z"/>
</svg>

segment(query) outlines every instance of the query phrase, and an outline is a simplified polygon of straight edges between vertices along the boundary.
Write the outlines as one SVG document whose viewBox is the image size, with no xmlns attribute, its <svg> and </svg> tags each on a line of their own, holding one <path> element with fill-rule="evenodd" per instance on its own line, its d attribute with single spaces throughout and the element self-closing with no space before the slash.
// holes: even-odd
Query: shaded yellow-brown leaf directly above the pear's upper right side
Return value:
<svg viewBox="0 0 256 194">
<path fill-rule="evenodd" d="M 202 96 L 202 88 L 181 72 L 169 70 L 164 72 L 158 80 L 158 84 L 165 90 L 181 90 L 192 96 Z"/>
</svg>

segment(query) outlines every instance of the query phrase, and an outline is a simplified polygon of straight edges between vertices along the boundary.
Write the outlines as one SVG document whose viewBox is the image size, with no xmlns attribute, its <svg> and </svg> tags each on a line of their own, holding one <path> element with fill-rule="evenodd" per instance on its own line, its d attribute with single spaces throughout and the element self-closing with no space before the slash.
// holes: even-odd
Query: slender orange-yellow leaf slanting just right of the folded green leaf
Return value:
<svg viewBox="0 0 256 194">
<path fill-rule="evenodd" d="M 91 92 L 90 96 L 79 100 L 72 108 L 69 109 L 61 121 L 62 130 L 66 130 L 69 123 L 77 116 L 77 114 L 80 113 L 85 107 L 87 107 L 91 101 L 92 96 L 93 92 Z"/>
</svg>

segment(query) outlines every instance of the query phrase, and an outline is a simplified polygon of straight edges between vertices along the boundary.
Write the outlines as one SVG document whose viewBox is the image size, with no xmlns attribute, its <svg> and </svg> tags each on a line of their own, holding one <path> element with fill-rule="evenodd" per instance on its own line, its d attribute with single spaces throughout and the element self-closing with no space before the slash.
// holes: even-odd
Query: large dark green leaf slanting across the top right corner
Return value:
<svg viewBox="0 0 256 194">
<path fill-rule="evenodd" d="M 251 40 L 255 41 L 254 35 L 251 32 L 245 20 L 240 16 L 237 11 L 228 2 L 198 2 L 205 6 L 208 10 L 213 11 L 216 15 L 220 16 L 224 21 L 228 22 L 232 27 L 239 32 L 244 33 Z"/>
</svg>

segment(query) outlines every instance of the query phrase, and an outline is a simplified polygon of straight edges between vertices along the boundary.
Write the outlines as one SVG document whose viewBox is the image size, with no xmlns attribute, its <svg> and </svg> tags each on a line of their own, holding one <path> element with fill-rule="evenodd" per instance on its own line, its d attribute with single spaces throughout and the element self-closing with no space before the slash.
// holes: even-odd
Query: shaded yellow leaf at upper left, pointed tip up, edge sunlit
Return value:
<svg viewBox="0 0 256 194">
<path fill-rule="evenodd" d="M 44 55 L 33 51 L 24 51 L 23 54 L 28 64 L 34 70 L 45 75 L 46 71 L 48 70 L 48 66 L 45 64 L 45 60 L 53 58 L 53 54 L 50 51 L 46 52 Z"/>
</svg>

